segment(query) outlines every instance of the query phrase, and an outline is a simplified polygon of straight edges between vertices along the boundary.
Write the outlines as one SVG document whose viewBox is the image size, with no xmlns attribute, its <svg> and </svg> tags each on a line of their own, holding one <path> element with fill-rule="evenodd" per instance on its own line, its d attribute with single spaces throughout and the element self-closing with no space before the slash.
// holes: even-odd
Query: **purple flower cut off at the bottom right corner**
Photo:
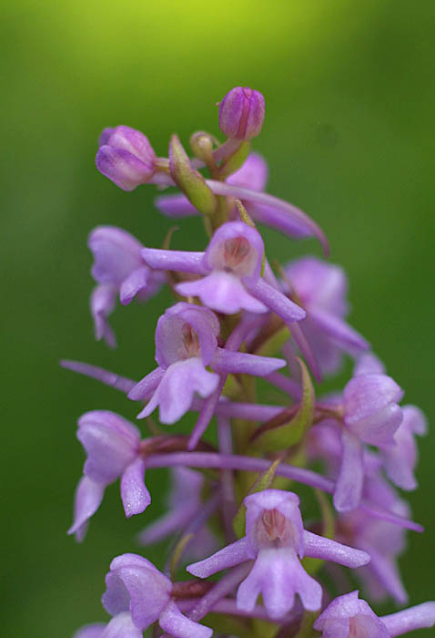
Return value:
<svg viewBox="0 0 435 638">
<path fill-rule="evenodd" d="M 435 602 L 423 602 L 379 618 L 358 594 L 347 593 L 330 602 L 314 623 L 314 629 L 323 638 L 392 638 L 435 624 Z"/>
</svg>

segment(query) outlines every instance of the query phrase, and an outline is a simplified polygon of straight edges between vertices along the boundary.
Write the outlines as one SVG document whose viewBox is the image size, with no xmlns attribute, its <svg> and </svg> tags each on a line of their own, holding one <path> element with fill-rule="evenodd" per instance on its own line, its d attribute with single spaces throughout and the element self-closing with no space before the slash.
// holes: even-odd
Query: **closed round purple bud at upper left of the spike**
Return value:
<svg viewBox="0 0 435 638">
<path fill-rule="evenodd" d="M 123 190 L 134 190 L 150 181 L 156 170 L 156 154 L 138 130 L 118 126 L 104 129 L 96 153 L 96 168 Z"/>
</svg>

